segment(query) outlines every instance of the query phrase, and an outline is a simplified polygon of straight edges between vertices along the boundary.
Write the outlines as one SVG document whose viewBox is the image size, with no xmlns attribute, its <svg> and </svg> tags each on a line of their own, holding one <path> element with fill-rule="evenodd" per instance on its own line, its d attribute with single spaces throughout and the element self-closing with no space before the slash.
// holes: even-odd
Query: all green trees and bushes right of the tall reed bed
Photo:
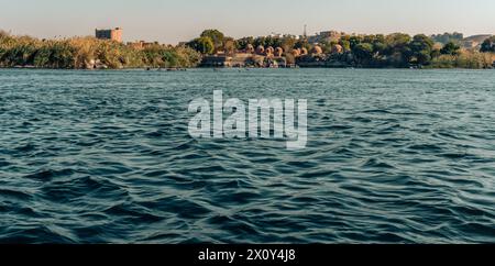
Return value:
<svg viewBox="0 0 495 266">
<path fill-rule="evenodd" d="M 490 56 L 480 53 L 463 52 L 459 41 L 463 38 L 462 33 L 446 33 L 441 35 L 427 36 L 418 34 L 410 36 L 404 33 L 389 35 L 343 35 L 330 42 L 319 43 L 322 54 L 328 60 L 344 62 L 346 65 L 358 67 L 410 67 L 410 66 L 453 66 L 453 67 L 488 67 Z M 187 44 L 188 47 L 204 55 L 218 52 L 233 53 L 243 51 L 248 46 L 282 47 L 288 62 L 294 62 L 290 53 L 297 48 L 314 51 L 315 44 L 307 40 L 294 37 L 243 37 L 234 40 L 226 36 L 218 30 L 206 30 L 198 38 Z M 336 54 L 336 46 L 339 46 Z M 485 51 L 495 48 L 494 40 L 486 41 Z M 308 55 L 314 56 L 314 55 Z M 308 58 L 304 58 L 308 60 Z M 321 58 L 317 58 L 321 60 Z M 310 58 L 309 58 L 310 60 Z M 449 62 L 447 64 L 447 62 Z"/>
</svg>

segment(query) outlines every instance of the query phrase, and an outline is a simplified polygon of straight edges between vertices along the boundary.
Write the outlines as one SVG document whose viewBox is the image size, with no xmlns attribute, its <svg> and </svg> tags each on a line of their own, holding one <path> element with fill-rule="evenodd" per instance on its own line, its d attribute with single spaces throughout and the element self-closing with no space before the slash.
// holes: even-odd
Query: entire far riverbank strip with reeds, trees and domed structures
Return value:
<svg viewBox="0 0 495 266">
<path fill-rule="evenodd" d="M 344 35 L 327 46 L 300 40 L 232 41 L 223 36 L 215 45 L 217 48 L 210 47 L 207 52 L 197 42 L 178 46 L 152 43 L 138 48 L 95 37 L 38 40 L 13 36 L 0 31 L 0 67 L 47 69 L 495 67 L 494 53 L 461 49 L 455 45 L 436 46 L 431 38 L 425 35 L 414 37 L 406 34 Z"/>
</svg>

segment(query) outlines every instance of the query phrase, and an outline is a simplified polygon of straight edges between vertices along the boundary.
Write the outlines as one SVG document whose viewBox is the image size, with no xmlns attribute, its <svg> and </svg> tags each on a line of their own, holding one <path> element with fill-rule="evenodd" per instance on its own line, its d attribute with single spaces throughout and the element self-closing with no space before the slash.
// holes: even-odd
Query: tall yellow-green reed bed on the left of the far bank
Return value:
<svg viewBox="0 0 495 266">
<path fill-rule="evenodd" d="M 156 44 L 139 49 L 94 37 L 38 40 L 0 32 L 0 67 L 195 67 L 200 59 L 199 53 L 184 46 L 172 47 Z"/>
</svg>

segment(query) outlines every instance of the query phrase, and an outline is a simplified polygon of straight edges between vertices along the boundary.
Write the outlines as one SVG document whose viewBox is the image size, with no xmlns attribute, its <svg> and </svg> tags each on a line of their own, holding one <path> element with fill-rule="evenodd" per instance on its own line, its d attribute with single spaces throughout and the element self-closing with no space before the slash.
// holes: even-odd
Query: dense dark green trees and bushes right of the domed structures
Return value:
<svg viewBox="0 0 495 266">
<path fill-rule="evenodd" d="M 352 55 L 350 64 L 356 66 L 476 69 L 494 67 L 495 37 L 486 40 L 481 51 L 473 51 L 461 48 L 459 41 L 455 41 L 461 34 L 451 35 L 450 41 L 443 45 L 424 34 L 411 37 L 403 33 L 387 36 L 343 36 L 339 43 Z"/>
</svg>

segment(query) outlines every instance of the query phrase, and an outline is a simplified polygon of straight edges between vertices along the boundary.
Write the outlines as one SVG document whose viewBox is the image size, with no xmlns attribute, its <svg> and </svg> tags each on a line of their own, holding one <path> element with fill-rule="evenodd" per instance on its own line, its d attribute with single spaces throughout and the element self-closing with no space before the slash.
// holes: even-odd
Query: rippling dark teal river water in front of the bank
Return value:
<svg viewBox="0 0 495 266">
<path fill-rule="evenodd" d="M 308 147 L 188 102 L 308 99 Z M 0 70 L 2 243 L 495 242 L 491 70 Z"/>
</svg>

